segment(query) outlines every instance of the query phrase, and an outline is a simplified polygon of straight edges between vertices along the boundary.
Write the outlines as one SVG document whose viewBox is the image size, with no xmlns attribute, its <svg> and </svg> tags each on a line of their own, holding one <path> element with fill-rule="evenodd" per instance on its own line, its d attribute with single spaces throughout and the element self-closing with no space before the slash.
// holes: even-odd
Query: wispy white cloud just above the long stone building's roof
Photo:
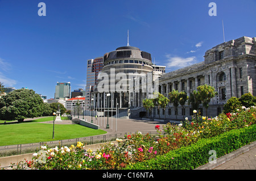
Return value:
<svg viewBox="0 0 256 181">
<path fill-rule="evenodd" d="M 196 63 L 196 57 L 179 57 L 179 56 L 171 56 L 170 54 L 166 55 L 167 59 L 167 68 L 184 68 L 185 66 L 193 65 Z"/>
</svg>

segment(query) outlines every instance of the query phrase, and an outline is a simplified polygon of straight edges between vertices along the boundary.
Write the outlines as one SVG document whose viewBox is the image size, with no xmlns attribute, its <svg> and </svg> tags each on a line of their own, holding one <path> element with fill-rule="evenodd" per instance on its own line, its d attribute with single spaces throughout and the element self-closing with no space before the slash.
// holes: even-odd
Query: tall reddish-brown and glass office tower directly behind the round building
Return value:
<svg viewBox="0 0 256 181">
<path fill-rule="evenodd" d="M 85 87 L 85 102 L 89 103 L 91 96 L 90 92 L 96 87 L 98 73 L 103 67 L 103 57 L 89 59 L 87 61 L 86 87 Z"/>
</svg>

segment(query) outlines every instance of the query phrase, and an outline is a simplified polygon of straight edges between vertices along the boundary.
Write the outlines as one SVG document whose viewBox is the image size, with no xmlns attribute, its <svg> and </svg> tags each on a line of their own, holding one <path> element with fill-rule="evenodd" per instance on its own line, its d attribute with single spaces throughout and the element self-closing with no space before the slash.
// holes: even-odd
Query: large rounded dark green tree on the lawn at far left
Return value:
<svg viewBox="0 0 256 181">
<path fill-rule="evenodd" d="M 26 117 L 42 116 L 43 100 L 35 91 L 19 89 L 0 99 L 0 117 L 3 120 L 23 122 Z"/>
</svg>

